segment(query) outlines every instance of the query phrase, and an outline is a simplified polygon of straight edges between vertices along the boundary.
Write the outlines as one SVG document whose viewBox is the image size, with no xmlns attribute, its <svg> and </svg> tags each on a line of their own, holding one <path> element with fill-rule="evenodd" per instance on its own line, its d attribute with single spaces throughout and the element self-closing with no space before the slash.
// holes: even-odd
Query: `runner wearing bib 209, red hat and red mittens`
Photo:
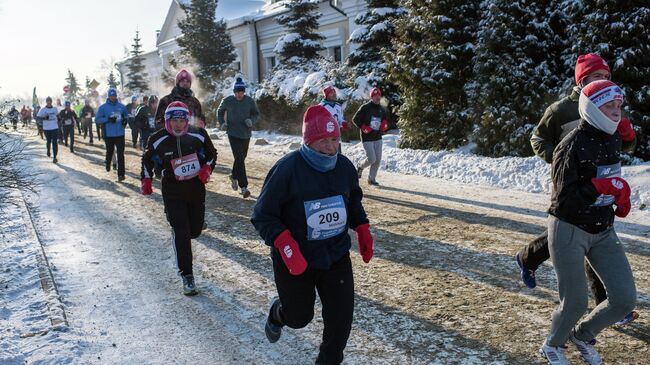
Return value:
<svg viewBox="0 0 650 365">
<path fill-rule="evenodd" d="M 271 168 L 251 218 L 271 246 L 279 295 L 269 309 L 266 336 L 273 343 L 283 326 L 307 326 L 318 291 L 324 329 L 317 364 L 340 364 L 350 335 L 354 280 L 348 228 L 356 231 L 363 261 L 373 254 L 363 194 L 354 165 L 337 153 L 339 139 L 327 109 L 307 109 L 302 147 Z"/>
</svg>

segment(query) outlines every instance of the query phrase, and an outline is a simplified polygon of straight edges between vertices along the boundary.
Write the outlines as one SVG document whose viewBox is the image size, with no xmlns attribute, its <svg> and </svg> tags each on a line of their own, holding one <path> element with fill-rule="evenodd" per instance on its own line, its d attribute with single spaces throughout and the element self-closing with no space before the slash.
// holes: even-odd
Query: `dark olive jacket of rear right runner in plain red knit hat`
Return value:
<svg viewBox="0 0 650 365">
<path fill-rule="evenodd" d="M 578 101 L 580 90 L 574 88 L 571 95 L 551 104 L 530 138 L 530 145 L 537 156 L 547 163 L 553 160 L 553 150 L 560 141 L 580 123 Z M 623 152 L 634 151 L 636 137 L 633 141 L 623 142 Z"/>
</svg>

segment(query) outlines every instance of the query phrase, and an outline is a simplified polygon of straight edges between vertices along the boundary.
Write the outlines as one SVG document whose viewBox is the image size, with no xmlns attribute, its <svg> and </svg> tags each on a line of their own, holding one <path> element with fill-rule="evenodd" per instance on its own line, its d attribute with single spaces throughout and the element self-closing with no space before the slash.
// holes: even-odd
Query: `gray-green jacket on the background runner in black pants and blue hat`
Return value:
<svg viewBox="0 0 650 365">
<path fill-rule="evenodd" d="M 226 129 L 228 135 L 242 139 L 251 138 L 251 128 L 246 125 L 246 119 L 250 119 L 255 125 L 259 115 L 260 111 L 255 100 L 248 95 L 244 95 L 242 100 L 237 100 L 235 96 L 230 95 L 221 101 L 217 109 L 219 125 L 228 123 Z"/>
</svg>

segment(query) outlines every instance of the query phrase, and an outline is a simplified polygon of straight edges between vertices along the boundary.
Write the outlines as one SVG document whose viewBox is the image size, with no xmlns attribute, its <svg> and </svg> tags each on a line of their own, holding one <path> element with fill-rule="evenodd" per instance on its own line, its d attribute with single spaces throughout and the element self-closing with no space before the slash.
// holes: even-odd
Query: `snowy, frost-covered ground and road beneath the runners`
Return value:
<svg viewBox="0 0 650 365">
<path fill-rule="evenodd" d="M 264 337 L 275 286 L 268 247 L 249 222 L 269 168 L 297 148 L 300 138 L 255 135 L 269 144 L 251 143 L 253 197 L 243 200 L 227 180 L 227 139 L 223 132 L 211 135 L 220 137 L 214 140 L 219 161 L 208 184 L 208 230 L 193 245 L 201 292 L 193 298 L 181 294 L 175 275 L 159 182 L 151 197 L 139 194 L 139 151 L 127 148 L 127 179 L 118 183 L 113 171 L 104 170 L 101 142 L 77 141 L 77 153 L 61 149 L 54 165 L 44 156 L 43 142 L 27 138 L 39 156 L 30 163 L 44 183 L 40 196 L 32 197 L 38 208 L 33 216 L 69 326 L 53 330 L 48 318 L 49 300 L 34 266 L 37 242 L 25 239 L 18 218 L 3 221 L 0 364 L 313 363 L 322 331 L 320 304 L 306 328 L 285 329 L 276 344 Z M 357 296 L 345 363 L 542 363 L 536 350 L 556 306 L 555 274 L 545 264 L 539 287 L 523 288 L 512 255 L 545 225 L 545 172 L 534 159 L 398 150 L 394 138 L 385 139 L 382 185 L 361 181 L 376 249 L 366 265 L 353 244 Z M 356 161 L 360 148 L 345 144 L 344 154 Z M 464 163 L 465 158 L 473 160 Z M 414 170 L 400 170 L 408 166 Z M 638 190 L 647 189 L 639 185 L 647 181 L 647 169 L 626 167 L 624 174 Z M 503 183 L 494 184 L 499 177 Z M 608 363 L 640 364 L 650 355 L 647 217 L 634 208 L 617 223 L 641 318 L 599 337 Z M 575 350 L 569 353 L 578 363 Z"/>
</svg>

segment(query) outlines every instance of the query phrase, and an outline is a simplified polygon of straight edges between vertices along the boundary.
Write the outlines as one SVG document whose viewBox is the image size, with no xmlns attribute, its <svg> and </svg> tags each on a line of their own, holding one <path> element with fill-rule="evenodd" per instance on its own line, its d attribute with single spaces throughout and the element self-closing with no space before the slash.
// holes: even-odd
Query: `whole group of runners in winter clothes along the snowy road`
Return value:
<svg viewBox="0 0 650 365">
<path fill-rule="evenodd" d="M 535 153 L 551 164 L 553 192 L 548 229 L 515 256 L 521 279 L 537 285 L 535 272 L 549 258 L 557 275 L 560 304 L 553 313 L 549 335 L 540 354 L 550 364 L 569 364 L 566 344 L 572 343 L 584 361 L 601 364 L 595 338 L 608 326 L 638 318 L 636 289 L 630 265 L 614 229 L 615 217 L 630 211 L 630 187 L 621 178 L 623 151 L 634 148 L 636 136 L 621 112 L 624 95 L 610 81 L 608 64 L 596 54 L 580 55 L 571 95 L 548 107 L 531 138 Z M 114 89 L 95 113 L 86 105 L 80 116 L 66 107 L 58 111 L 47 99 L 37 120 L 57 162 L 59 123 L 73 151 L 78 118 L 95 118 L 103 126 L 106 170 L 117 151 L 118 180 L 124 179 L 124 134 L 130 125 L 143 149 L 141 192 L 153 192 L 161 179 L 161 194 L 172 227 L 173 245 L 183 293 L 197 294 L 192 270 L 191 240 L 205 228 L 205 185 L 215 168 L 217 151 L 205 128 L 200 102 L 191 90 L 192 76 L 183 70 L 176 86 L 160 100 L 149 96 L 135 108 L 117 100 Z M 373 257 L 370 221 L 359 184 L 369 168 L 367 183 L 376 177 L 382 155 L 382 134 L 388 129 L 381 90 L 354 114 L 366 158 L 354 164 L 341 153 L 341 131 L 348 131 L 332 86 L 323 100 L 310 106 L 302 120 L 302 146 L 282 157 L 268 172 L 253 207 L 251 223 L 270 247 L 277 297 L 269 306 L 265 333 L 272 343 L 284 327 L 307 326 L 314 316 L 316 293 L 322 303 L 323 338 L 317 364 L 343 360 L 354 312 L 354 275 L 350 229 L 365 263 Z M 250 196 L 245 160 L 260 113 L 246 85 L 238 78 L 233 95 L 217 110 L 219 126 L 230 142 L 234 163 L 229 176 L 233 190 Z M 90 131 L 91 124 L 84 127 Z M 85 132 L 84 132 L 85 133 Z M 98 129 L 99 134 L 99 129 Z M 84 135 L 85 137 L 85 135 Z M 132 135 L 134 146 L 137 135 Z M 615 207 L 615 208 L 614 208 Z M 586 268 L 586 273 L 585 273 Z M 587 277 L 597 306 L 587 310 Z"/>
</svg>

